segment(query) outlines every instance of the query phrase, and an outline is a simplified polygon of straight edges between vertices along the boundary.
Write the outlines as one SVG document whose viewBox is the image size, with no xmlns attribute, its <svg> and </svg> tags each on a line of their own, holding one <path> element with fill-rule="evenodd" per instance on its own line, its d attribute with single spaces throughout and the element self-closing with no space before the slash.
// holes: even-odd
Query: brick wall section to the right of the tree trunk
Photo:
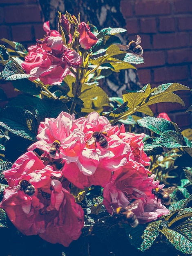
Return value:
<svg viewBox="0 0 192 256">
<path fill-rule="evenodd" d="M 178 82 L 192 88 L 192 0 L 121 0 L 129 40 L 139 34 L 145 64 L 138 65 L 143 85 L 152 87 Z M 177 103 L 159 103 L 152 111 L 167 112 L 184 129 L 191 126 L 192 104 L 188 91 L 177 93 L 185 107 Z"/>
</svg>

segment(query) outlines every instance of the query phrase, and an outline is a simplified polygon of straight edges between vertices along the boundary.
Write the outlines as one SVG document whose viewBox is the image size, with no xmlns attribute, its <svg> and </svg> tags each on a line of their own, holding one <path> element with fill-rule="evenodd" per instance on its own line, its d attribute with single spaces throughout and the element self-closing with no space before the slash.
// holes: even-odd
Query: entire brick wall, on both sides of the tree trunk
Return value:
<svg viewBox="0 0 192 256">
<path fill-rule="evenodd" d="M 145 64 L 138 65 L 138 76 L 143 83 L 158 86 L 178 82 L 192 88 L 192 0 L 121 0 L 129 39 L 139 34 L 142 38 Z M 36 0 L 0 0 L 0 38 L 22 43 L 25 47 L 42 38 L 42 16 Z M 9 86 L 1 84 L 1 87 Z M 190 92 L 179 96 L 185 107 L 177 103 L 161 103 L 152 111 L 167 112 L 172 121 L 184 129 L 191 126 Z"/>
</svg>

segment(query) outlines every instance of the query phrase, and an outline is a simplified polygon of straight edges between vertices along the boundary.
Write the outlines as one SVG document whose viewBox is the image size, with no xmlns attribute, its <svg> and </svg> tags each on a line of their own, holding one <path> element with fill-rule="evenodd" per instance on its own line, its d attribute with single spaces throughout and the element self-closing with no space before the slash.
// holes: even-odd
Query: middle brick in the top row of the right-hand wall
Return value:
<svg viewBox="0 0 192 256">
<path fill-rule="evenodd" d="M 167 0 L 137 0 L 135 3 L 135 13 L 138 16 L 169 14 L 171 13 L 171 4 Z"/>
</svg>

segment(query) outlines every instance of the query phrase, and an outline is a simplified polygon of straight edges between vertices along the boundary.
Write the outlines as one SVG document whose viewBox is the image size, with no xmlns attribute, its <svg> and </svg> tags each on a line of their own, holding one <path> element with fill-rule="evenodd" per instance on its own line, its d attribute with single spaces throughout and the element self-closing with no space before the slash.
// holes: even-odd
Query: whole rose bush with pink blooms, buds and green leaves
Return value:
<svg viewBox="0 0 192 256">
<path fill-rule="evenodd" d="M 122 238 L 116 234 L 123 234 L 124 239 L 125 233 L 126 252 L 130 240 L 143 252 L 159 245 L 161 238 L 169 248 L 171 243 L 185 253 L 189 247 L 183 245 L 191 239 L 190 232 L 182 234 L 192 217 L 191 173 L 189 169 L 181 172 L 185 155 L 180 154 L 191 153 L 192 144 L 184 137 L 189 133 L 181 133 L 165 113 L 160 115 L 163 118 L 152 117 L 149 106 L 161 101 L 183 104 L 173 92 L 190 89 L 178 83 L 151 88 L 148 83 L 136 92 L 124 90 L 122 98 L 108 97 L 99 87 L 99 79 L 143 63 L 143 57 L 131 49 L 121 50 L 121 37 L 116 34 L 126 30 L 109 27 L 98 31 L 81 22 L 80 15 L 77 19 L 67 12 L 58 13 L 58 18 L 58 31 L 45 22 L 45 37 L 29 47 L 28 53 L 19 43 L 6 39 L 2 41 L 14 49 L 0 45 L 2 79 L 13 85 L 20 79 L 15 88 L 24 92 L 1 110 L 1 227 L 6 227 L 6 212 L 22 234 L 38 235 L 65 247 L 78 240 L 74 243 L 79 244 L 77 254 L 85 244 L 89 254 L 89 246 L 94 245 L 89 242 L 96 237 L 103 240 L 102 234 L 110 244 L 112 237 L 115 241 Z M 25 83 L 27 79 L 30 82 Z M 3 91 L 1 95 L 7 99 Z M 136 112 L 149 116 L 132 115 Z M 134 128 L 141 129 L 138 125 L 149 128 L 152 136 L 134 134 Z M 12 166 L 5 160 L 4 144 L 15 137 L 27 140 L 27 146 L 21 143 L 18 150 L 13 143 L 11 157 L 27 147 L 28 152 L 11 158 Z M 170 148 L 177 147 L 180 150 L 170 153 Z M 179 156 L 178 162 L 174 162 L 175 156 Z M 189 155 L 184 159 L 187 162 Z M 177 184 L 171 197 L 163 182 Z M 165 207 L 165 197 L 167 204 L 171 199 L 182 201 Z M 180 240 L 184 243 L 178 247 L 175 241 Z"/>
</svg>

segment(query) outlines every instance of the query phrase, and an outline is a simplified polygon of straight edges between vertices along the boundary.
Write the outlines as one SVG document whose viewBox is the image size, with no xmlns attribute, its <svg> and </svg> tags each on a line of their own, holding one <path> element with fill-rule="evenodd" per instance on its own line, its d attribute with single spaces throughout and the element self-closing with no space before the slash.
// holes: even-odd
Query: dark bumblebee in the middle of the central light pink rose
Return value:
<svg viewBox="0 0 192 256">
<path fill-rule="evenodd" d="M 109 137 L 107 136 L 107 132 L 93 132 L 92 137 L 87 141 L 87 145 L 89 146 L 94 143 L 95 147 L 97 147 L 98 143 L 101 148 L 107 149 L 109 144 L 106 137 Z"/>
</svg>

